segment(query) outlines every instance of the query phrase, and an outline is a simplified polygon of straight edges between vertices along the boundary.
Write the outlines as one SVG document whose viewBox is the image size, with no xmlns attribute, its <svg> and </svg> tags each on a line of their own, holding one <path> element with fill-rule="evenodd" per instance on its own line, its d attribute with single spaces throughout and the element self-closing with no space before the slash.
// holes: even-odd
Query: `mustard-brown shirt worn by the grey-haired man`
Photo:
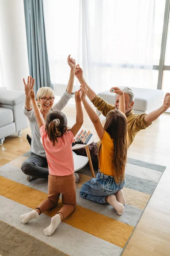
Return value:
<svg viewBox="0 0 170 256">
<path fill-rule="evenodd" d="M 104 116 L 107 116 L 108 112 L 115 109 L 115 106 L 112 104 L 109 104 L 104 99 L 102 99 L 99 96 L 95 96 L 94 99 L 91 101 L 94 106 L 102 112 Z M 129 135 L 129 143 L 133 143 L 133 140 L 136 136 L 136 134 L 145 128 L 147 128 L 149 125 L 151 125 L 151 122 L 148 123 L 144 120 L 144 117 L 146 116 L 145 113 L 142 114 L 135 114 L 133 109 L 126 114 L 127 117 L 127 132 Z"/>
</svg>

